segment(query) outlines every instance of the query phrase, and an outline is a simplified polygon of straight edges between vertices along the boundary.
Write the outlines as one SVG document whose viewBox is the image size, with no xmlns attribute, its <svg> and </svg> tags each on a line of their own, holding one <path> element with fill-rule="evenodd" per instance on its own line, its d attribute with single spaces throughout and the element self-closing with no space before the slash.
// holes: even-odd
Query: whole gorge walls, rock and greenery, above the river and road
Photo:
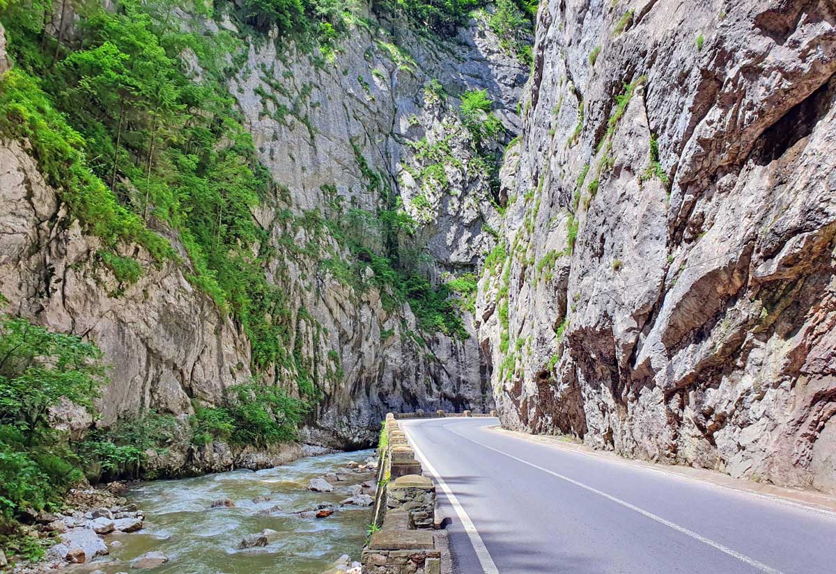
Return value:
<svg viewBox="0 0 836 574">
<path fill-rule="evenodd" d="M 0 0 L 0 24 L 0 476 L 68 486 L 8 429 L 70 345 L 99 391 L 26 428 L 91 481 L 495 409 L 836 494 L 830 0 Z M 43 510 L 11 490 L 3 530 Z"/>
</svg>

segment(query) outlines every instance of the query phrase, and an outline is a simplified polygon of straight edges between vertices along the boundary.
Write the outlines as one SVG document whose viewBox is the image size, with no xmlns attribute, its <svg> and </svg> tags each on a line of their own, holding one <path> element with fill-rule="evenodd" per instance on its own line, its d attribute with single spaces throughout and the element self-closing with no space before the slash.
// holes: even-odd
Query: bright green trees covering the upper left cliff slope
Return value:
<svg viewBox="0 0 836 574">
<path fill-rule="evenodd" d="M 275 189 L 224 85 L 237 44 L 225 33 L 181 32 L 162 19 L 176 7 L 166 2 L 80 5 L 73 47 L 45 32 L 48 6 L 9 3 L 0 18 L 16 68 L 0 88 L 0 133 L 28 138 L 72 216 L 102 239 L 99 259 L 123 287 L 141 270 L 115 256 L 119 244 L 176 259 L 145 224 L 161 219 L 179 232 L 191 283 L 249 336 L 253 368 L 292 365 L 283 291 L 264 275 L 268 254 L 252 252 L 267 232 L 251 209 Z M 199 82 L 182 71 L 186 47 L 203 68 Z"/>
</svg>

